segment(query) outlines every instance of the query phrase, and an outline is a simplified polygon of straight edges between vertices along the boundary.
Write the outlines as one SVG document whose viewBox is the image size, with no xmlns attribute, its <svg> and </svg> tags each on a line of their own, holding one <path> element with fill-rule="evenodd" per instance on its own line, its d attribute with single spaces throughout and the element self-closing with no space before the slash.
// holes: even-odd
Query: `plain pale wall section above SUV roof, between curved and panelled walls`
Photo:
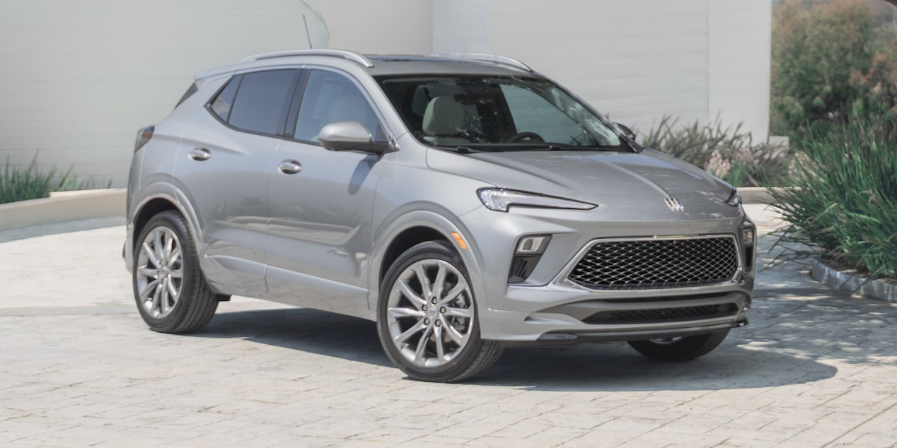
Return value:
<svg viewBox="0 0 897 448">
<path fill-rule="evenodd" d="M 306 0 L 330 31 L 330 47 L 366 54 L 425 55 L 433 46 L 432 0 Z"/>
</svg>

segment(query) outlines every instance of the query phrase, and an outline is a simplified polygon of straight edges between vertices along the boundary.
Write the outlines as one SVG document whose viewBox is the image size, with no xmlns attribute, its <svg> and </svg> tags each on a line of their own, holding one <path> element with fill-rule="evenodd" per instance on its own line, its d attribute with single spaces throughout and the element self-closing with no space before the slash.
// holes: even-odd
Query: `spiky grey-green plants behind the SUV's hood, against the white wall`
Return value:
<svg viewBox="0 0 897 448">
<path fill-rule="evenodd" d="M 753 144 L 751 134 L 741 131 L 741 124 L 723 127 L 719 117 L 707 125 L 678 123 L 678 119 L 664 116 L 641 144 L 684 159 L 736 186 L 779 185 L 788 174 L 788 150 Z"/>
</svg>

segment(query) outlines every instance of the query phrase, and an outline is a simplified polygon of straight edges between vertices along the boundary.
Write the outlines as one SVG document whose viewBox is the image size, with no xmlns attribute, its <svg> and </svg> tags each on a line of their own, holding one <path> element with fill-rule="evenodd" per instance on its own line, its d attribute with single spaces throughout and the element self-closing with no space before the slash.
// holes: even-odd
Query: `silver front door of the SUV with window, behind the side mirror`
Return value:
<svg viewBox="0 0 897 448">
<path fill-rule="evenodd" d="M 368 312 L 371 214 L 379 156 L 327 151 L 318 132 L 355 120 L 382 134 L 367 94 L 344 73 L 309 70 L 268 175 L 268 298 L 343 314 Z"/>
</svg>

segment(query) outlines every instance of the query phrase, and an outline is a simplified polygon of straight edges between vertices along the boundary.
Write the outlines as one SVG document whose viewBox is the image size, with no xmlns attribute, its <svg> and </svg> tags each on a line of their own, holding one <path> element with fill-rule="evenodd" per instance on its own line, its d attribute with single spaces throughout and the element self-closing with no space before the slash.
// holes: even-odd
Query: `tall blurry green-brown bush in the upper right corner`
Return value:
<svg viewBox="0 0 897 448">
<path fill-rule="evenodd" d="M 863 0 L 790 0 L 773 14 L 771 132 L 831 132 L 849 116 L 897 118 L 897 60 Z"/>
</svg>

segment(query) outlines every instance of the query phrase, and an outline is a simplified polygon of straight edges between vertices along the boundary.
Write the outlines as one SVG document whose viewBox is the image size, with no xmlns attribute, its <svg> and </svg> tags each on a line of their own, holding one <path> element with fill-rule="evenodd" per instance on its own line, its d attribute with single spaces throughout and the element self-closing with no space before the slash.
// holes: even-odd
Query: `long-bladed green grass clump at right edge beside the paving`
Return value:
<svg viewBox="0 0 897 448">
<path fill-rule="evenodd" d="M 790 257 L 823 254 L 897 279 L 897 125 L 851 118 L 799 142 L 806 158 L 797 159 L 791 188 L 772 192 L 788 222 L 777 244 Z"/>
</svg>

